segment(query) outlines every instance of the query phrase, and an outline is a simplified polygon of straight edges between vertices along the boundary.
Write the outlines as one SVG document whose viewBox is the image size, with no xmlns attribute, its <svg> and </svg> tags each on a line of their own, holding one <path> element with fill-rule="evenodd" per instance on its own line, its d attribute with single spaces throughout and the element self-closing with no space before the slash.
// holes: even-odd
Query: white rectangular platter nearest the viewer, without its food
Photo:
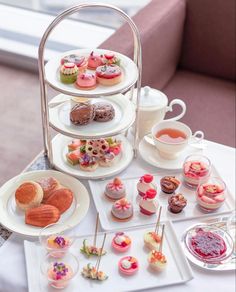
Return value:
<svg viewBox="0 0 236 292">
<path fill-rule="evenodd" d="M 130 249 L 125 253 L 117 253 L 112 249 L 111 241 L 115 232 L 108 232 L 104 246 L 107 254 L 102 257 L 100 264 L 100 270 L 108 275 L 108 279 L 103 282 L 85 279 L 81 275 L 82 268 L 89 262 L 95 265 L 97 257 L 88 259 L 80 253 L 80 248 L 85 238 L 88 239 L 88 242 L 93 242 L 93 235 L 83 236 L 75 240 L 70 250 L 79 258 L 79 274 L 63 291 L 137 291 L 181 284 L 191 280 L 193 278 L 192 271 L 177 240 L 173 226 L 171 222 L 163 223 L 165 224 L 163 253 L 168 263 L 165 271 L 158 273 L 148 268 L 147 255 L 149 250 L 144 247 L 143 236 L 146 231 L 154 230 L 154 225 L 148 225 L 120 230 L 129 235 L 132 240 Z M 97 239 L 98 246 L 102 244 L 102 240 L 103 233 L 100 233 Z M 24 248 L 29 292 L 55 291 L 55 289 L 48 286 L 46 279 L 40 273 L 40 261 L 46 253 L 43 247 L 37 243 L 25 241 Z M 119 259 L 127 255 L 134 256 L 139 261 L 140 268 L 137 274 L 132 276 L 123 276 L 118 271 Z"/>
</svg>

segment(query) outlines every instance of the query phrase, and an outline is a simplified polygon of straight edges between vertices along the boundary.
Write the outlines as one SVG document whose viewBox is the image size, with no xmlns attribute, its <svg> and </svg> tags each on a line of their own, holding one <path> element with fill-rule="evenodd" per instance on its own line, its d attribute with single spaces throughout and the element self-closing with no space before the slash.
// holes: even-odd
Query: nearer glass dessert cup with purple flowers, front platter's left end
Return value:
<svg viewBox="0 0 236 292">
<path fill-rule="evenodd" d="M 48 285 L 64 289 L 78 273 L 79 262 L 69 252 L 52 251 L 43 258 L 40 268 Z"/>
</svg>

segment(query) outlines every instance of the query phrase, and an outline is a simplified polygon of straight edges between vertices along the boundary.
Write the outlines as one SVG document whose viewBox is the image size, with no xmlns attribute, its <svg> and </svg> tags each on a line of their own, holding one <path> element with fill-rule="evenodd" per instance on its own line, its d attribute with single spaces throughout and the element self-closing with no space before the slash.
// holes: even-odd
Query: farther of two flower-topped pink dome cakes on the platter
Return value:
<svg viewBox="0 0 236 292">
<path fill-rule="evenodd" d="M 104 194 L 111 200 L 124 198 L 126 196 L 125 185 L 120 178 L 116 177 L 112 182 L 106 185 Z"/>
</svg>

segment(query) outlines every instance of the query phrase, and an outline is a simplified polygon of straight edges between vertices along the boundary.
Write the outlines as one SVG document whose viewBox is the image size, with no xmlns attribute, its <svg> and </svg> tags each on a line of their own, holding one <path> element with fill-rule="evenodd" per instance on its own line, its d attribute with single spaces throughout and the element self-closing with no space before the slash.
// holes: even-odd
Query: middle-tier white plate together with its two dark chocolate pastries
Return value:
<svg viewBox="0 0 236 292">
<path fill-rule="evenodd" d="M 75 103 L 64 94 L 56 96 L 55 100 L 62 103 L 49 107 L 50 125 L 71 137 L 96 139 L 114 136 L 128 129 L 135 120 L 135 106 L 122 94 L 93 99 L 89 104 Z M 74 106 L 77 109 L 73 109 L 72 122 L 70 116 Z"/>
</svg>

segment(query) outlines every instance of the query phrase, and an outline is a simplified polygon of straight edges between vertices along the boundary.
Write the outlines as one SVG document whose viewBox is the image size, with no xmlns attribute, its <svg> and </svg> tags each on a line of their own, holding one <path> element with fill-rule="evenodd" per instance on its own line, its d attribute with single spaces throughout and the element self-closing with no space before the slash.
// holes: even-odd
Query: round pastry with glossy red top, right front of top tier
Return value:
<svg viewBox="0 0 236 292">
<path fill-rule="evenodd" d="M 117 65 L 104 65 L 97 67 L 96 76 L 98 83 L 110 86 L 121 82 L 122 71 Z"/>
</svg>

